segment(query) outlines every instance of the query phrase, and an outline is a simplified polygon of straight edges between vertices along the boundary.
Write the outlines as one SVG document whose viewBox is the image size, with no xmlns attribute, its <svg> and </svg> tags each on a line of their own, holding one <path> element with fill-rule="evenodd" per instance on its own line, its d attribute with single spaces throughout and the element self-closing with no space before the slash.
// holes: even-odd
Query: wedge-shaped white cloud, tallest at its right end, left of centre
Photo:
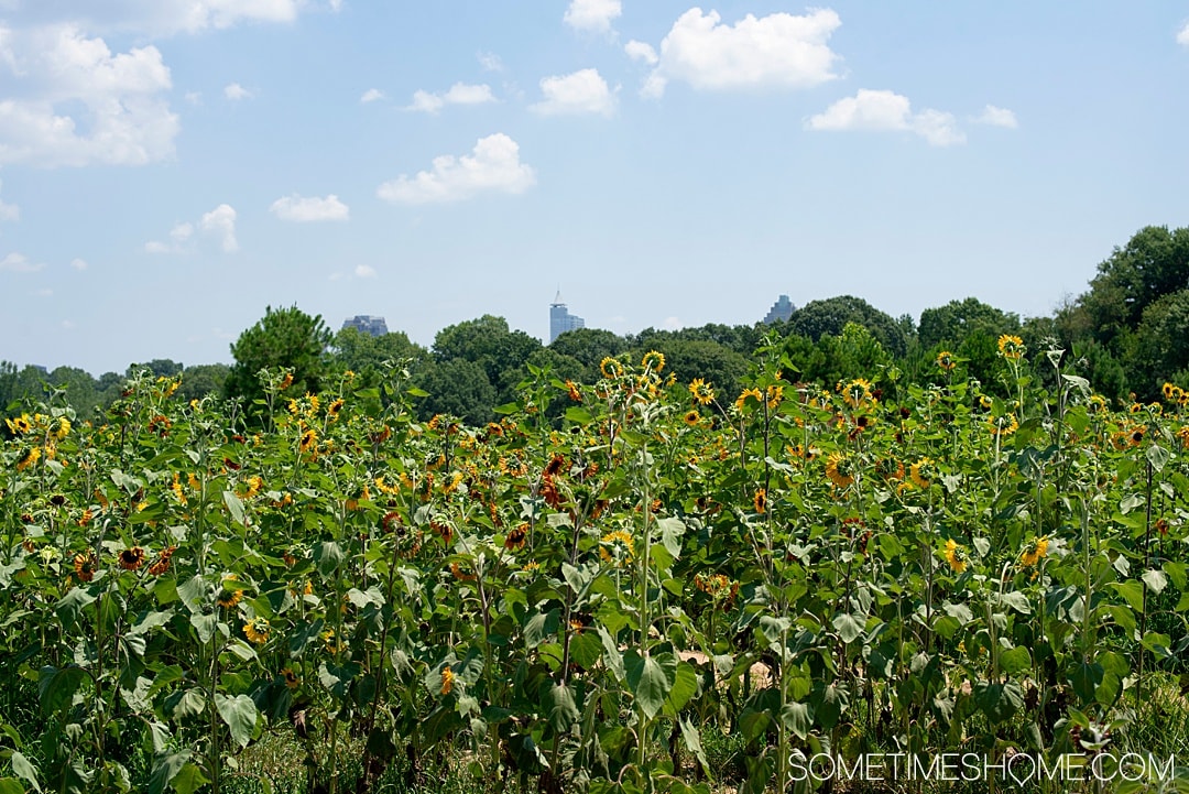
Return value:
<svg viewBox="0 0 1189 794">
<path fill-rule="evenodd" d="M 416 176 L 385 182 L 376 195 L 407 204 L 460 201 L 480 193 L 521 194 L 536 183 L 533 169 L 520 160 L 520 146 L 497 132 L 480 138 L 470 156 L 435 157 L 433 168 Z"/>
</svg>

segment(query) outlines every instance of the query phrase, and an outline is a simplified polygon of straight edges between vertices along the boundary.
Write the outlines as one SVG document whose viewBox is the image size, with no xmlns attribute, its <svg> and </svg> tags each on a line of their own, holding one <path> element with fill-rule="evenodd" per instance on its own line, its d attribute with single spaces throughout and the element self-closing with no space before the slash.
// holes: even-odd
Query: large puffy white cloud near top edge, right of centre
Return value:
<svg viewBox="0 0 1189 794">
<path fill-rule="evenodd" d="M 721 25 L 721 19 L 718 12 L 702 8 L 681 14 L 661 42 L 660 62 L 642 93 L 660 96 L 671 80 L 725 90 L 810 88 L 838 76 L 832 71 L 838 56 L 828 42 L 842 20 L 829 8 L 804 17 L 748 14 L 735 25 Z"/>
</svg>

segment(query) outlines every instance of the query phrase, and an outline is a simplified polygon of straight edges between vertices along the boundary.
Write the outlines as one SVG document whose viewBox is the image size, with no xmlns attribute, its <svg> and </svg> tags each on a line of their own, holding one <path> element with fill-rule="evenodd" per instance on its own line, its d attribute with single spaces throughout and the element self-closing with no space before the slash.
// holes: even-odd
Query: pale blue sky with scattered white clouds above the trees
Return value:
<svg viewBox="0 0 1189 794">
<path fill-rule="evenodd" d="M 0 359 L 1048 315 L 1189 225 L 1187 86 L 1185 2 L 0 0 Z"/>
</svg>

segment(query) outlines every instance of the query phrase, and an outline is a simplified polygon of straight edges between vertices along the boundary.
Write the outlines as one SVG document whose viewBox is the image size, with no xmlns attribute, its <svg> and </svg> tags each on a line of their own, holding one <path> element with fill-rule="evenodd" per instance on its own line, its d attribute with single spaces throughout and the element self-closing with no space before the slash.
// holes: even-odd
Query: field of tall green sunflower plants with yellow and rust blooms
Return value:
<svg viewBox="0 0 1189 794">
<path fill-rule="evenodd" d="M 30 405 L 0 792 L 220 792 L 270 731 L 332 792 L 348 748 L 361 790 L 457 751 L 545 792 L 762 792 L 795 754 L 1120 746 L 1189 645 L 1185 392 L 1116 408 L 1061 351 L 996 354 L 994 390 L 950 352 L 807 384 L 768 346 L 742 393 L 655 352 L 529 366 L 479 427 L 419 421 L 400 364 L 265 370 L 259 427 L 152 374 L 103 422 Z"/>
</svg>

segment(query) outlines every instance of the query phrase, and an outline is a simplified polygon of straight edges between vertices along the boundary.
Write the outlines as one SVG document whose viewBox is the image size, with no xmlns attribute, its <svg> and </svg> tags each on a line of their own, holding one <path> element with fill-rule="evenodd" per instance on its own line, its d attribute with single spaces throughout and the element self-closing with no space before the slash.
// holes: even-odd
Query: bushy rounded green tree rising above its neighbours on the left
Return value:
<svg viewBox="0 0 1189 794">
<path fill-rule="evenodd" d="M 298 393 L 316 393 L 326 374 L 329 342 L 331 329 L 322 322 L 322 315 L 312 317 L 296 305 L 288 309 L 268 307 L 264 317 L 231 346 L 235 364 L 227 373 L 224 393 L 231 398 L 243 397 L 250 405 L 263 399 L 264 387 L 257 373 L 265 367 L 291 368 L 291 389 Z"/>
</svg>

